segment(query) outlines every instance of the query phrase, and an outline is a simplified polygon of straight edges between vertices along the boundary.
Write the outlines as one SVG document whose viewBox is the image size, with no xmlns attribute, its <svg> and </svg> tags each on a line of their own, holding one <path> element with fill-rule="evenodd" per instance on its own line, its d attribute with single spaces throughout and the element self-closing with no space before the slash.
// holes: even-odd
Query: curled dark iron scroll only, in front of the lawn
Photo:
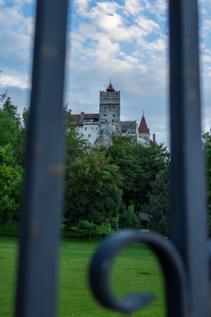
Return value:
<svg viewBox="0 0 211 317">
<path fill-rule="evenodd" d="M 109 273 L 115 257 L 129 243 L 146 243 L 157 255 L 163 268 L 168 316 L 185 316 L 186 312 L 186 274 L 183 261 L 176 247 L 164 237 L 152 233 L 125 230 L 104 240 L 97 248 L 90 266 L 90 285 L 96 299 L 104 306 L 133 313 L 155 297 L 153 294 L 134 293 L 124 298 L 115 298 L 109 286 Z"/>
</svg>

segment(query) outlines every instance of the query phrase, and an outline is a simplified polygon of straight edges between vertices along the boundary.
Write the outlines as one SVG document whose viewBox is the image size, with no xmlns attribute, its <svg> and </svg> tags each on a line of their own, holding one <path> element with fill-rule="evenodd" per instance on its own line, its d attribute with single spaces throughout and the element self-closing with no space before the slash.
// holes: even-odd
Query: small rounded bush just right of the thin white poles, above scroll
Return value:
<svg viewBox="0 0 211 317">
<path fill-rule="evenodd" d="M 119 215 L 119 229 L 141 229 L 141 221 L 132 210 Z"/>
</svg>

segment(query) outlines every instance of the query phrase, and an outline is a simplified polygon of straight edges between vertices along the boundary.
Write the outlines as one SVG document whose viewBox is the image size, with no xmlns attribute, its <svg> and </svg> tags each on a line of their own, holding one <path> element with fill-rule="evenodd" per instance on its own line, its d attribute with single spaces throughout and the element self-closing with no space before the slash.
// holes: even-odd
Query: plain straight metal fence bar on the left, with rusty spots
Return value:
<svg viewBox="0 0 211 317">
<path fill-rule="evenodd" d="M 56 315 L 66 0 L 38 0 L 16 316 Z"/>
</svg>

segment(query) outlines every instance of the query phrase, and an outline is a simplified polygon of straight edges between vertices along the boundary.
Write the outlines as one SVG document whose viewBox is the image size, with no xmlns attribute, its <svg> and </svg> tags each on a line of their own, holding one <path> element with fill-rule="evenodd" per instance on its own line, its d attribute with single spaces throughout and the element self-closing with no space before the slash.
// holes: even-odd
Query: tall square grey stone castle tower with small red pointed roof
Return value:
<svg viewBox="0 0 211 317">
<path fill-rule="evenodd" d="M 109 127 L 120 128 L 120 91 L 114 90 L 111 81 L 106 92 L 100 91 L 98 134 Z"/>
</svg>

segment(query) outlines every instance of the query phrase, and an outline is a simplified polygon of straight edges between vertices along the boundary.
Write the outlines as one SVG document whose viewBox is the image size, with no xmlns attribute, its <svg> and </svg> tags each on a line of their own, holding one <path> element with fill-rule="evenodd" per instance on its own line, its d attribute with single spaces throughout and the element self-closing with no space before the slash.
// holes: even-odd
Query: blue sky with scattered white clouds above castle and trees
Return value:
<svg viewBox="0 0 211 317">
<path fill-rule="evenodd" d="M 1 92 L 30 104 L 34 0 L 0 0 Z M 150 133 L 170 150 L 169 33 L 165 0 L 69 1 L 64 103 L 98 113 L 99 91 L 121 91 L 121 120 L 145 115 Z M 202 130 L 211 127 L 211 0 L 199 1 Z M 191 131 L 190 131 L 191 133 Z M 152 138 L 151 138 L 152 139 Z"/>
</svg>

